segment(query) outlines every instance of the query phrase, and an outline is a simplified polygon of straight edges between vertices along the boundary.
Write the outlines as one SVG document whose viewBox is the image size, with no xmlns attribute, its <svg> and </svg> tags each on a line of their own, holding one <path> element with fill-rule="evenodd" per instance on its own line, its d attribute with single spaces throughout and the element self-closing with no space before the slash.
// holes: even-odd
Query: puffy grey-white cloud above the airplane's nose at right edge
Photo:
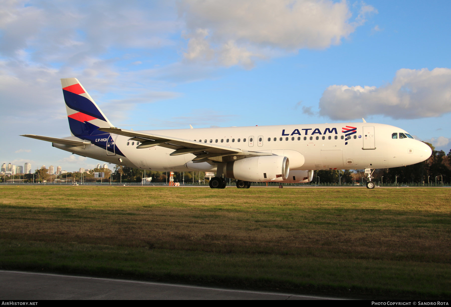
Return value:
<svg viewBox="0 0 451 307">
<path fill-rule="evenodd" d="M 421 118 L 451 112 L 451 69 L 400 69 L 385 86 L 329 86 L 319 101 L 320 115 L 350 120 L 368 115 Z"/>
</svg>

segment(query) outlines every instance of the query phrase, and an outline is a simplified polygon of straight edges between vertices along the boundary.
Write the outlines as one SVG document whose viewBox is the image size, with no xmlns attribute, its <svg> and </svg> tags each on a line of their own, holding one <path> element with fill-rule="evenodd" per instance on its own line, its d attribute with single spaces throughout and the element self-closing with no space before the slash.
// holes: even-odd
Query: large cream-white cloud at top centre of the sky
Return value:
<svg viewBox="0 0 451 307">
<path fill-rule="evenodd" d="M 369 14 L 377 13 L 371 5 L 359 5 L 352 21 L 346 1 L 185 0 L 179 3 L 189 40 L 184 58 L 250 68 L 255 58 L 265 58 L 274 49 L 286 53 L 338 45 Z"/>
</svg>

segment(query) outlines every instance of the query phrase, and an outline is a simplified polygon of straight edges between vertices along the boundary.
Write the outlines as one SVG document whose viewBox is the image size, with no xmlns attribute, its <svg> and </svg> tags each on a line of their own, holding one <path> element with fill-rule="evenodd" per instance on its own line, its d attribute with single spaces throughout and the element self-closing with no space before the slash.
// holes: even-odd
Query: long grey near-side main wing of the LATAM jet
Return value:
<svg viewBox="0 0 451 307">
<path fill-rule="evenodd" d="M 175 149 L 171 156 L 179 154 L 194 154 L 197 157 L 193 162 L 226 162 L 229 156 L 239 156 L 239 158 L 248 158 L 255 156 L 272 155 L 268 153 L 250 152 L 239 148 L 232 148 L 212 143 L 201 143 L 193 140 L 179 139 L 166 135 L 157 135 L 142 131 L 124 130 L 116 127 L 100 127 L 100 131 L 110 132 L 113 134 L 128 136 L 130 140 L 141 142 L 136 148 L 148 148 L 153 146 L 161 146 Z"/>
</svg>

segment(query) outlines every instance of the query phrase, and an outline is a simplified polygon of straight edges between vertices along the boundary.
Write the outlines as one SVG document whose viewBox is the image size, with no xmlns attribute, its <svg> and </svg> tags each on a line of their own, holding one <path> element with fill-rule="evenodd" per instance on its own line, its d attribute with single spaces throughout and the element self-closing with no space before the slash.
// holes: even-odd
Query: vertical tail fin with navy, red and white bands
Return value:
<svg viewBox="0 0 451 307">
<path fill-rule="evenodd" d="M 113 127 L 77 78 L 61 79 L 61 86 L 72 135 L 101 134 L 98 127 Z"/>
</svg>

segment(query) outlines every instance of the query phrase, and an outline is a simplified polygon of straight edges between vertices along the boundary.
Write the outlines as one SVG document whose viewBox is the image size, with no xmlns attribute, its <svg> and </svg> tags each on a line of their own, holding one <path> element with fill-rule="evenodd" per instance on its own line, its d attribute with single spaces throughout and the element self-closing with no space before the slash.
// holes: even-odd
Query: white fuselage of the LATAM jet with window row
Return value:
<svg viewBox="0 0 451 307">
<path fill-rule="evenodd" d="M 355 129 L 354 129 L 355 128 Z M 344 132 L 343 132 L 344 131 Z M 349 131 L 354 134 L 346 136 Z M 290 159 L 290 170 L 364 169 L 419 163 L 431 154 L 428 145 L 412 138 L 392 138 L 406 131 L 377 123 L 249 126 L 143 131 L 247 151 L 269 152 Z M 124 154 L 109 153 L 95 144 L 54 146 L 109 163 L 155 171 L 215 171 L 214 163 L 193 163 L 193 154 L 170 156 L 174 149 L 154 146 L 137 149 L 137 142 L 111 135 Z M 350 139 L 348 139 L 350 137 Z M 67 139 L 79 140 L 76 137 Z"/>
</svg>

